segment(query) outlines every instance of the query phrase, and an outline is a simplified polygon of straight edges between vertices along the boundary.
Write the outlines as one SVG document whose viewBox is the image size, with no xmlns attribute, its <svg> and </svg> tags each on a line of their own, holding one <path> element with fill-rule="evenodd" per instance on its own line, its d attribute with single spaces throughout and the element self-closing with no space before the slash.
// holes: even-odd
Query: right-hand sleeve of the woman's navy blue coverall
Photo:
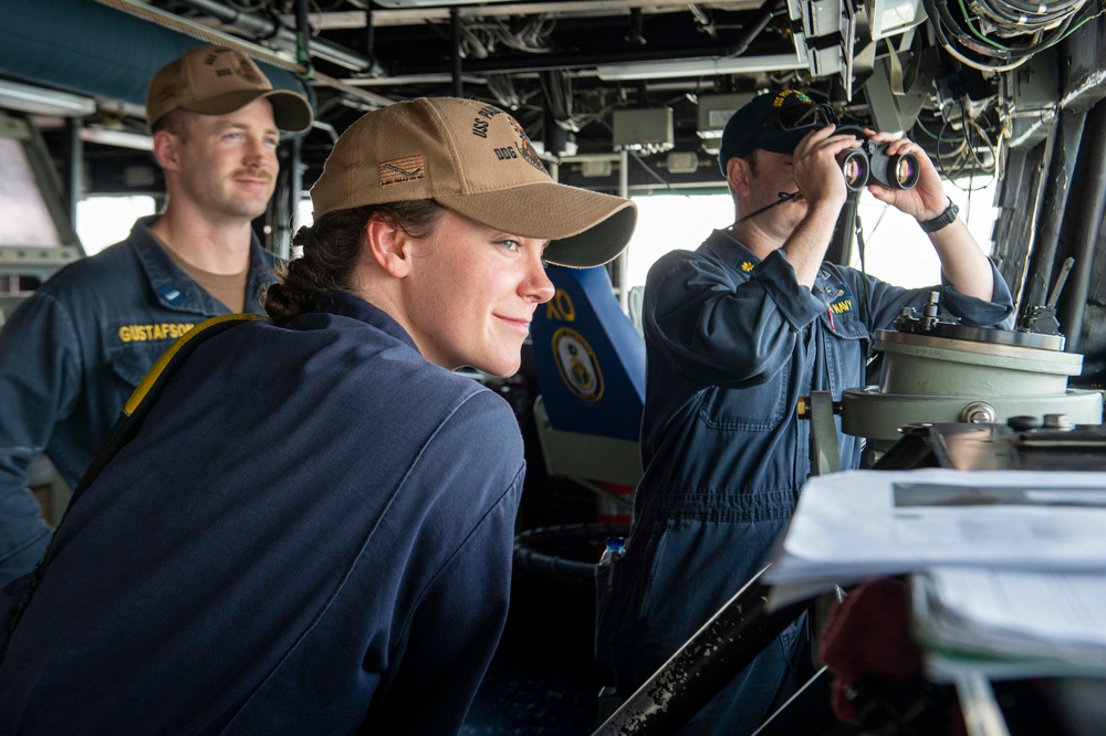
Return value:
<svg viewBox="0 0 1106 736">
<path fill-rule="evenodd" d="M 420 550 L 448 559 L 420 582 L 404 612 L 397 663 L 382 682 L 365 726 L 388 734 L 453 734 L 483 680 L 507 621 L 514 521 L 524 464 L 508 404 L 483 391 L 426 448 L 419 464 L 440 484 L 426 509 Z M 416 572 L 417 575 L 417 572 Z M 382 728 L 383 726 L 383 728 Z"/>
</svg>

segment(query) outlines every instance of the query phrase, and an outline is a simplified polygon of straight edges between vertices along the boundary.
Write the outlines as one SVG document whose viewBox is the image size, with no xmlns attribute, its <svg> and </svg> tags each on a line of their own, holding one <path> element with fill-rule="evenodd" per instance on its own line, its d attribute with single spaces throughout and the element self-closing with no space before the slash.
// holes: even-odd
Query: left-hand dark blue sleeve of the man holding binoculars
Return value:
<svg viewBox="0 0 1106 736">
<path fill-rule="evenodd" d="M 824 311 L 780 251 L 748 274 L 674 251 L 654 265 L 645 287 L 650 348 L 671 355 L 691 380 L 727 388 L 771 378 Z"/>
</svg>

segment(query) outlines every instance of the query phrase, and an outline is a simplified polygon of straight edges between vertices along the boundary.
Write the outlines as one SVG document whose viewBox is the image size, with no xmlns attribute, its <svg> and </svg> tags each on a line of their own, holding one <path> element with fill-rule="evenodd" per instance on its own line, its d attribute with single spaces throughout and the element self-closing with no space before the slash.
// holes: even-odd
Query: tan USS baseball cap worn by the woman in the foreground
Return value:
<svg viewBox="0 0 1106 736">
<path fill-rule="evenodd" d="M 311 189 L 314 218 L 365 204 L 432 199 L 504 232 L 551 241 L 550 263 L 594 266 L 626 248 L 637 207 L 553 181 L 522 126 L 456 97 L 374 111 L 334 144 Z"/>
</svg>

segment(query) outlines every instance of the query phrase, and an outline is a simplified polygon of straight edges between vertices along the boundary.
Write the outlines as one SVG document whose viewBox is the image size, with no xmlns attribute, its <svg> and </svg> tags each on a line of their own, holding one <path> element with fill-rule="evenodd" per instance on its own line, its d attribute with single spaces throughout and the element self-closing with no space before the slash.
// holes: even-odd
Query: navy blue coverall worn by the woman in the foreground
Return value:
<svg viewBox="0 0 1106 736">
<path fill-rule="evenodd" d="M 205 340 L 59 527 L 6 730 L 457 733 L 524 469 L 508 402 L 361 298 Z"/>
</svg>

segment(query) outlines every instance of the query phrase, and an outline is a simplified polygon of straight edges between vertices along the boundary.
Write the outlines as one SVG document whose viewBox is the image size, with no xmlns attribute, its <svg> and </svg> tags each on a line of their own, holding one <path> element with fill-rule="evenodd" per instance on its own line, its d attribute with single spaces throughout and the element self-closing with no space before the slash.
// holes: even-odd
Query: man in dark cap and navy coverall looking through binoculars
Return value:
<svg viewBox="0 0 1106 736">
<path fill-rule="evenodd" d="M 719 157 L 734 223 L 649 271 L 645 473 L 597 632 L 623 697 L 766 561 L 810 474 L 800 396 L 831 391 L 839 400 L 843 389 L 863 386 L 869 335 L 902 307 L 920 308 L 931 291 L 968 325 L 1000 325 L 1013 311 L 925 151 L 889 134 L 860 140 L 830 118 L 791 90 L 734 113 Z M 876 156 L 865 162 L 885 167 L 872 169 L 868 189 L 929 233 L 940 286 L 906 290 L 823 262 L 851 196 L 843 160 L 866 143 Z M 838 442 L 842 469 L 857 467 L 859 439 L 838 433 Z M 685 733 L 754 730 L 811 670 L 804 629 L 801 618 Z"/>
</svg>

